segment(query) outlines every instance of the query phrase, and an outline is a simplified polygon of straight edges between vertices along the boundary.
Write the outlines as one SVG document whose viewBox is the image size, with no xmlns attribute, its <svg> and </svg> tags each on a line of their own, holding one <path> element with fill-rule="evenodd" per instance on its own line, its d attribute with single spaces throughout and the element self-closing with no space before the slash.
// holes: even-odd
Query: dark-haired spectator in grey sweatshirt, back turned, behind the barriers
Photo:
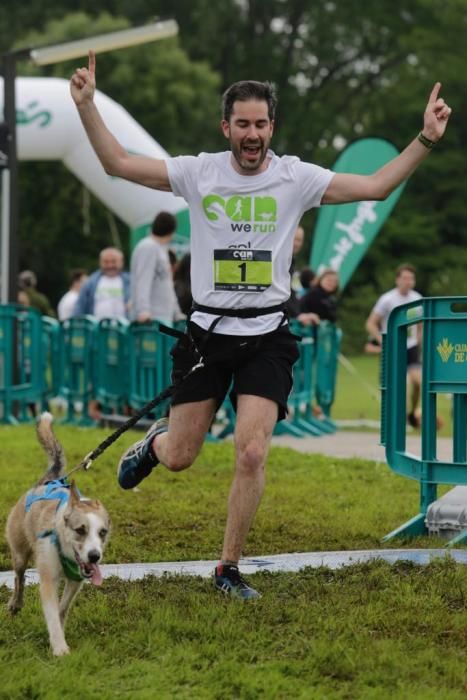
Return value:
<svg viewBox="0 0 467 700">
<path fill-rule="evenodd" d="M 161 211 L 153 221 L 151 233 L 142 238 L 131 256 L 130 317 L 138 323 L 151 320 L 171 324 L 182 314 L 175 294 L 169 243 L 177 221 Z"/>
</svg>

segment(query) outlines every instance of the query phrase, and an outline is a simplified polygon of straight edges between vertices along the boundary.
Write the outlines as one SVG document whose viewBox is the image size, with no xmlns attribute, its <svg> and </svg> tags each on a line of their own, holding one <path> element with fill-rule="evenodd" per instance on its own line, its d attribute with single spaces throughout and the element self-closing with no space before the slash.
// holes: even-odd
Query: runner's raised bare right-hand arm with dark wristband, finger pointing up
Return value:
<svg viewBox="0 0 467 700">
<path fill-rule="evenodd" d="M 323 204 L 386 199 L 425 160 L 432 146 L 443 136 L 451 108 L 439 97 L 441 83 L 435 83 L 423 117 L 423 130 L 396 158 L 373 175 L 337 173 L 324 193 Z"/>
</svg>

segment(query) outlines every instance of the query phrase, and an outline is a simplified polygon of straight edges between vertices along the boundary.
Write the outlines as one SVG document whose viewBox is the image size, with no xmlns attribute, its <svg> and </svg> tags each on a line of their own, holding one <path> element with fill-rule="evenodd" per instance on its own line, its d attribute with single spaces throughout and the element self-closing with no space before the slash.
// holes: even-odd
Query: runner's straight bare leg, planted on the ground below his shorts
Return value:
<svg viewBox="0 0 467 700">
<path fill-rule="evenodd" d="M 265 482 L 265 463 L 278 407 L 260 396 L 238 397 L 236 464 L 230 489 L 222 561 L 237 563 L 255 517 Z"/>
</svg>

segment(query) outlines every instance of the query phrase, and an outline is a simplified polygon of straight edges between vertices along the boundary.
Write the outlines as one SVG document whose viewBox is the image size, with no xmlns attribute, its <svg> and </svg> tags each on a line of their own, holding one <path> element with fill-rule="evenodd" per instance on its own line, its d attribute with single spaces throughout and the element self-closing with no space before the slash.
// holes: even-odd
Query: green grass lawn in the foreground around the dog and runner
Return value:
<svg viewBox="0 0 467 700">
<path fill-rule="evenodd" d="M 34 483 L 44 458 L 32 426 L 3 427 L 3 518 Z M 57 426 L 69 464 L 108 431 Z M 162 467 L 138 492 L 115 481 L 126 433 L 78 472 L 80 490 L 101 496 L 113 533 L 105 561 L 216 559 L 228 488 L 231 444 L 207 444 L 183 474 Z M 418 484 L 384 464 L 273 448 L 268 483 L 246 556 L 366 549 L 418 510 Z M 401 546 L 393 542 L 391 546 Z M 434 538 L 410 546 L 439 547 Z M 0 569 L 10 568 L 0 541 Z M 54 659 L 37 586 L 10 618 L 0 588 L 0 699 L 16 698 L 464 698 L 467 692 L 467 570 L 376 561 L 338 571 L 262 572 L 263 597 L 225 600 L 208 580 L 86 585 L 71 611 L 69 657 Z"/>
</svg>

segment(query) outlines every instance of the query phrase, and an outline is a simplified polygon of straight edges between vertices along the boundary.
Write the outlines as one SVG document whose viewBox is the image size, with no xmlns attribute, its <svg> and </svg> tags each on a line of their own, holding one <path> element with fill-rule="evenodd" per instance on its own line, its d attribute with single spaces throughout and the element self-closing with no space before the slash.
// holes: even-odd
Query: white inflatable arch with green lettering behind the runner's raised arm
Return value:
<svg viewBox="0 0 467 700">
<path fill-rule="evenodd" d="M 3 80 L 0 79 L 3 111 Z M 96 91 L 96 105 L 110 131 L 132 153 L 166 158 L 168 153 L 117 102 Z M 17 78 L 16 119 L 20 160 L 61 160 L 83 184 L 130 227 L 135 242 L 146 233 L 157 212 L 178 220 L 176 242 L 189 236 L 184 199 L 170 192 L 136 185 L 106 175 L 92 150 L 73 100 L 62 78 Z"/>
</svg>

